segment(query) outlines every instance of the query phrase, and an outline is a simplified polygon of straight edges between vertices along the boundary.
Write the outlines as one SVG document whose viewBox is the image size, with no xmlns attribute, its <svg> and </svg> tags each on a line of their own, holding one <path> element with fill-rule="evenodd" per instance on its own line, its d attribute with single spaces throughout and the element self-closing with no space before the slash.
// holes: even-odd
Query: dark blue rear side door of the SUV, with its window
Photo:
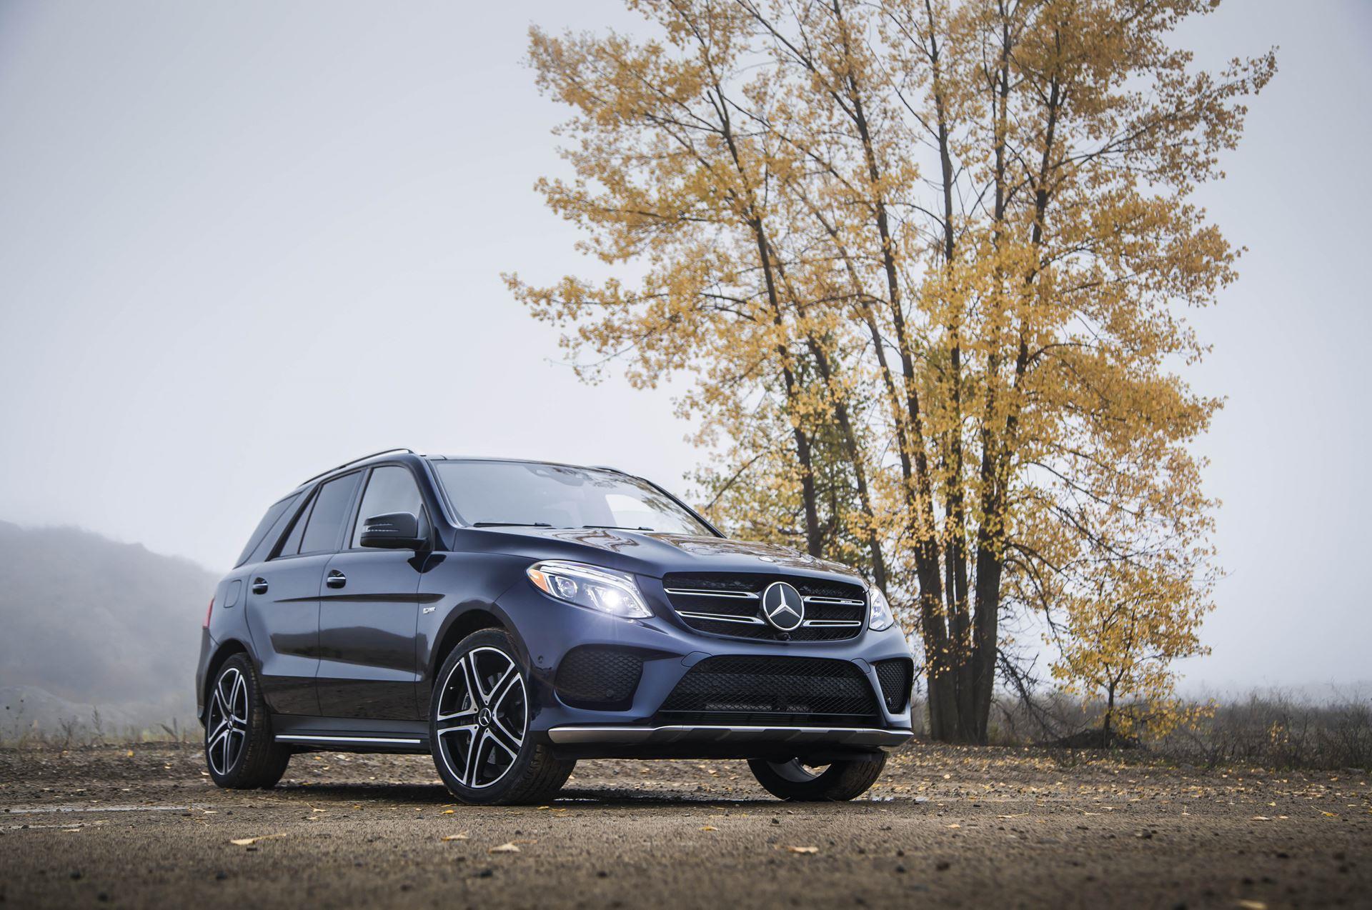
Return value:
<svg viewBox="0 0 1372 910">
<path fill-rule="evenodd" d="M 277 551 L 248 576 L 248 629 L 262 661 L 262 695 L 276 714 L 320 713 L 320 587 L 361 478 L 354 471 L 321 484 Z"/>
</svg>

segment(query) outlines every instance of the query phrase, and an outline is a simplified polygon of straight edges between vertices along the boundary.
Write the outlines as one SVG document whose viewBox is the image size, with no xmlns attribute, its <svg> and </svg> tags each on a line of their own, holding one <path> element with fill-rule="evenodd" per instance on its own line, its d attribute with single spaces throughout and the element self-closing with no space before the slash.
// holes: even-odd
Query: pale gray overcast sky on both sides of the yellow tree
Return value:
<svg viewBox="0 0 1372 910">
<path fill-rule="evenodd" d="M 584 386 L 499 271 L 580 266 L 531 185 L 563 112 L 525 30 L 576 3 L 0 0 L 0 519 L 226 567 L 265 506 L 386 445 L 613 463 L 681 489 L 670 391 Z M 1249 248 L 1196 323 L 1229 576 L 1192 687 L 1372 677 L 1372 4 L 1229 0 L 1280 45 L 1228 181 Z"/>
</svg>

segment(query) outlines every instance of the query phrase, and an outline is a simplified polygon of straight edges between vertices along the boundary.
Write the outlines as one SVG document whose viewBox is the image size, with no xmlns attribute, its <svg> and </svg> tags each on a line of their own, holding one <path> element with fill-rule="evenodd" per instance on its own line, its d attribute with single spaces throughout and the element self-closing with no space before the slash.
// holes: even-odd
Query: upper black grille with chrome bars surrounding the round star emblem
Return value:
<svg viewBox="0 0 1372 910">
<path fill-rule="evenodd" d="M 774 581 L 794 585 L 805 603 L 799 629 L 781 632 L 761 615 L 761 592 Z M 667 599 L 697 632 L 761 641 L 841 641 L 862 632 L 867 592 L 860 584 L 744 573 L 672 573 L 663 578 Z"/>
</svg>

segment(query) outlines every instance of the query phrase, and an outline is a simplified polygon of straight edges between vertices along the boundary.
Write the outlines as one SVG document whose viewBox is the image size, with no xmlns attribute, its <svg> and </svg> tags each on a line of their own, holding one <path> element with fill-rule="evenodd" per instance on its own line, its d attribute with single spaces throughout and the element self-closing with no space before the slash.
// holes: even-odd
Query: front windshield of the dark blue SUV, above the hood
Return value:
<svg viewBox="0 0 1372 910">
<path fill-rule="evenodd" d="M 613 471 L 531 462 L 434 462 L 468 525 L 623 528 L 711 534 L 652 485 Z"/>
</svg>

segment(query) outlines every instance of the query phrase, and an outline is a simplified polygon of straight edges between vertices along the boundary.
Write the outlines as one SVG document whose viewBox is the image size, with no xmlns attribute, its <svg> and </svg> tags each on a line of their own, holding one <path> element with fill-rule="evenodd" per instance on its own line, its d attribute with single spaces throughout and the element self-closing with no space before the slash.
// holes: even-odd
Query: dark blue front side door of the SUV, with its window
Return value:
<svg viewBox="0 0 1372 910">
<path fill-rule="evenodd" d="M 410 469 L 373 467 L 346 548 L 329 559 L 320 592 L 318 693 L 325 717 L 420 717 L 414 632 L 423 559 L 412 550 L 361 545 L 366 518 L 399 511 L 428 526 Z"/>
</svg>

